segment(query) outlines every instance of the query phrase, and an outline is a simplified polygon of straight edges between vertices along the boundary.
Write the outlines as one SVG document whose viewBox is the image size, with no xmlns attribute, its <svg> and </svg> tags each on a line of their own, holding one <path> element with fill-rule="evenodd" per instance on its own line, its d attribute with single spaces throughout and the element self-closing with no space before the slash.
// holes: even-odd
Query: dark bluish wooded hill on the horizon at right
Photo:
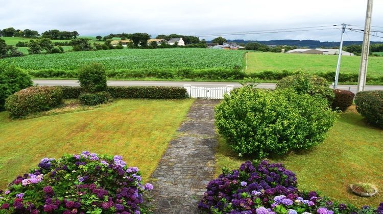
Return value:
<svg viewBox="0 0 383 214">
<path fill-rule="evenodd" d="M 208 41 L 211 42 L 211 41 Z M 236 42 L 236 43 L 249 43 L 249 42 L 258 42 L 266 45 L 291 45 L 298 47 L 309 47 L 309 48 L 319 48 L 321 46 L 325 47 L 336 47 L 340 45 L 340 42 L 321 42 L 319 40 L 293 40 L 293 39 L 284 39 L 284 40 L 270 40 L 270 41 L 254 41 L 254 40 L 243 40 L 243 39 L 235 39 L 228 40 L 228 42 Z M 370 42 L 371 44 L 383 43 L 383 42 Z M 352 44 L 362 44 L 362 41 L 344 41 L 343 45 L 352 45 Z"/>
</svg>

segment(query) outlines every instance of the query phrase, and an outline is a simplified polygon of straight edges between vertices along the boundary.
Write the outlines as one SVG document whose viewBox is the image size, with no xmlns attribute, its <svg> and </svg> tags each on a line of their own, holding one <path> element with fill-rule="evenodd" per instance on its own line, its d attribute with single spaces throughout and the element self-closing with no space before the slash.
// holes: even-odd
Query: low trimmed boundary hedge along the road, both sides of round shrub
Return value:
<svg viewBox="0 0 383 214">
<path fill-rule="evenodd" d="M 85 92 L 78 86 L 57 86 L 63 91 L 63 98 L 76 99 Z M 182 99 L 187 91 L 182 87 L 167 86 L 108 86 L 107 92 L 113 98 Z"/>
</svg>

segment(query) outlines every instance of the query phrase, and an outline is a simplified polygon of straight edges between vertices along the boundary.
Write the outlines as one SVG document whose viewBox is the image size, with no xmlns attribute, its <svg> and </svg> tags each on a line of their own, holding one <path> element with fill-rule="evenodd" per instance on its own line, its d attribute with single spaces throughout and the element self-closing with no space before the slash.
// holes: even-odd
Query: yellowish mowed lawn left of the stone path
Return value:
<svg viewBox="0 0 383 214">
<path fill-rule="evenodd" d="M 0 189 L 43 157 L 88 150 L 122 155 L 148 180 L 184 120 L 191 99 L 116 100 L 97 109 L 26 120 L 0 112 Z"/>
</svg>

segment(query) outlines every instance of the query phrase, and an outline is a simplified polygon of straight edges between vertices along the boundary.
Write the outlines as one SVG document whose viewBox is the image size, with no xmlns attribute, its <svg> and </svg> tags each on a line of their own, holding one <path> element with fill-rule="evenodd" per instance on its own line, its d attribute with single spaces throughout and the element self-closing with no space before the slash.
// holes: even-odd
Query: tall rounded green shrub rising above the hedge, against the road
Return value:
<svg viewBox="0 0 383 214">
<path fill-rule="evenodd" d="M 106 90 L 105 67 L 100 63 L 85 65 L 79 70 L 80 86 L 86 92 L 98 92 Z"/>
</svg>

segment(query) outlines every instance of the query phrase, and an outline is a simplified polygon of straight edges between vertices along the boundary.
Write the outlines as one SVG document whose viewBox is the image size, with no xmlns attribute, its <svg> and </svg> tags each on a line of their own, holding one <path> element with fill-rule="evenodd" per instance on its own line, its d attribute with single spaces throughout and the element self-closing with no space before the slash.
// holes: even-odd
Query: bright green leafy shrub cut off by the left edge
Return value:
<svg viewBox="0 0 383 214">
<path fill-rule="evenodd" d="M 4 110 L 8 96 L 32 85 L 31 76 L 26 72 L 14 65 L 0 63 L 0 111 Z"/>
</svg>

